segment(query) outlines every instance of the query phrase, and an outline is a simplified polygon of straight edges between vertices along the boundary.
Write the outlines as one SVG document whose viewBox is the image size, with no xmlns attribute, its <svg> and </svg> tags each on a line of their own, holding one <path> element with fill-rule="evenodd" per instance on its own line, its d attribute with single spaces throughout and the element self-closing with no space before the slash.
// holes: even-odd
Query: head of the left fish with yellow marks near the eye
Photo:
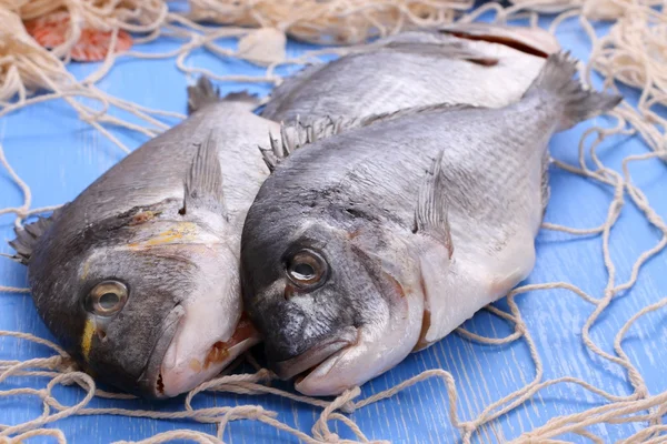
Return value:
<svg viewBox="0 0 667 444">
<path fill-rule="evenodd" d="M 115 218 L 69 244 L 38 245 L 33 297 L 96 379 L 145 397 L 176 396 L 257 342 L 241 322 L 230 243 L 238 242 L 176 209 Z"/>
</svg>

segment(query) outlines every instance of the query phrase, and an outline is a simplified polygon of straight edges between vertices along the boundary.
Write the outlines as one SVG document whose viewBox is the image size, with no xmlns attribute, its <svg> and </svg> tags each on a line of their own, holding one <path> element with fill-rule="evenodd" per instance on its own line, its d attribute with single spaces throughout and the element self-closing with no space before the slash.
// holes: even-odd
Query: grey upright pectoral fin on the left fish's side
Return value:
<svg viewBox="0 0 667 444">
<path fill-rule="evenodd" d="M 218 159 L 218 144 L 212 131 L 197 148 L 190 171 L 186 176 L 186 198 L 181 214 L 189 209 L 206 206 L 226 214 L 222 191 L 222 169 Z"/>
</svg>

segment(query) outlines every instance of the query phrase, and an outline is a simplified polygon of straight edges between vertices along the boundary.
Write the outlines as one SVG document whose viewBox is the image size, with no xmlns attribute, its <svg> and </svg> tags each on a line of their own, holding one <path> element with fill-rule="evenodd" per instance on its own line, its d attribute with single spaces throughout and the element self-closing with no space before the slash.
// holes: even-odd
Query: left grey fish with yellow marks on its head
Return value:
<svg viewBox="0 0 667 444">
<path fill-rule="evenodd" d="M 17 230 L 48 329 L 98 381 L 147 398 L 188 392 L 259 342 L 242 313 L 242 222 L 279 125 L 206 78 L 190 115 L 49 218 Z"/>
</svg>

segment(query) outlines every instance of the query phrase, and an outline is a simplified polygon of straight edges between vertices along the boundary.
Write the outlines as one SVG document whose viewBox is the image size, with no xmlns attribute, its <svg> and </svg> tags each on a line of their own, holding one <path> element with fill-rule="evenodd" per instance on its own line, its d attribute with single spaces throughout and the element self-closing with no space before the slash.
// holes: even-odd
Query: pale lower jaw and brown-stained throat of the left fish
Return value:
<svg viewBox="0 0 667 444">
<path fill-rule="evenodd" d="M 172 336 L 172 343 L 178 334 L 179 331 Z M 226 341 L 216 341 L 200 353 L 188 353 L 177 365 L 168 364 L 169 356 L 166 352 L 160 361 L 160 373 L 157 381 L 159 392 L 163 397 L 173 397 L 189 392 L 217 376 L 240 354 L 259 342 L 259 333 L 248 317 L 242 315 L 233 333 Z M 168 350 L 171 345 L 170 343 Z"/>
</svg>

